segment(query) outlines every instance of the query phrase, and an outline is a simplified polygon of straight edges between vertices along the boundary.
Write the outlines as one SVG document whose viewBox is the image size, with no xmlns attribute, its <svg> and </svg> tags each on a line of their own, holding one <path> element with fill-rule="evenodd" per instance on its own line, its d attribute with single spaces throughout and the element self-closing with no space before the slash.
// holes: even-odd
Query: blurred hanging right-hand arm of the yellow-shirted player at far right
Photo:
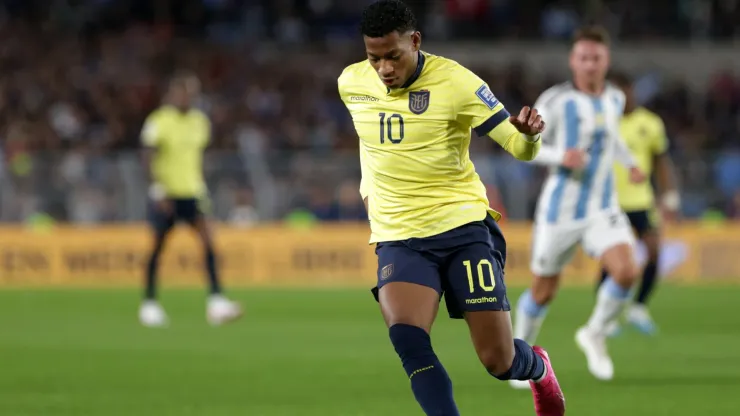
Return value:
<svg viewBox="0 0 740 416">
<path fill-rule="evenodd" d="M 668 153 L 668 138 L 662 120 L 656 120 L 654 130 L 652 150 L 657 191 L 663 208 L 675 214 L 681 209 L 681 195 L 678 193 L 676 169 Z"/>
</svg>

